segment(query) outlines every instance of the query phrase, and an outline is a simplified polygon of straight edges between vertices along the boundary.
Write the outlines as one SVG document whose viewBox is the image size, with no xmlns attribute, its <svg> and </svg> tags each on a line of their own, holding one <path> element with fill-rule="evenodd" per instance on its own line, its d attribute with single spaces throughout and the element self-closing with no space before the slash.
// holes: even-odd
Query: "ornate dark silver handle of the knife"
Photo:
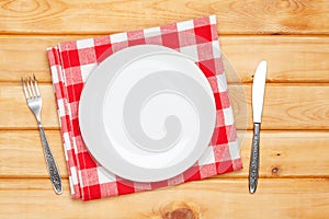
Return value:
<svg viewBox="0 0 329 219">
<path fill-rule="evenodd" d="M 259 174 L 259 140 L 260 140 L 260 124 L 253 124 L 253 139 L 249 166 L 249 192 L 253 194 L 257 189 Z"/>
</svg>

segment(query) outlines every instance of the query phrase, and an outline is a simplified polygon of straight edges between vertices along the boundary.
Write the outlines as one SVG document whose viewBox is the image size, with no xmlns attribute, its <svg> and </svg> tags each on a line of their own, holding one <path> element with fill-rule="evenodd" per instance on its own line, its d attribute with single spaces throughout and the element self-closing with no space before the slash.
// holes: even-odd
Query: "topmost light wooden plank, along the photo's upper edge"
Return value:
<svg viewBox="0 0 329 219">
<path fill-rule="evenodd" d="M 220 34 L 328 34 L 326 0 L 1 1 L 0 33 L 104 34 L 216 14 Z"/>
</svg>

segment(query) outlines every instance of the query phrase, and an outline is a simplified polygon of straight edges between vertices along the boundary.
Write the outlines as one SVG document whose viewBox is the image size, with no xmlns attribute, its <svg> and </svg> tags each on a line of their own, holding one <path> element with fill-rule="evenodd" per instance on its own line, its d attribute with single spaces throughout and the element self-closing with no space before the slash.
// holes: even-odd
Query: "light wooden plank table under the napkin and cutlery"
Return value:
<svg viewBox="0 0 329 219">
<path fill-rule="evenodd" d="M 223 54 L 240 77 L 227 81 L 245 169 L 152 192 L 71 199 L 46 47 L 208 14 L 217 15 Z M 327 0 L 0 1 L 0 218 L 329 218 L 328 36 Z M 250 195 L 251 83 L 261 59 L 269 61 L 261 168 Z M 59 196 L 21 89 L 31 73 L 64 177 Z"/>
</svg>

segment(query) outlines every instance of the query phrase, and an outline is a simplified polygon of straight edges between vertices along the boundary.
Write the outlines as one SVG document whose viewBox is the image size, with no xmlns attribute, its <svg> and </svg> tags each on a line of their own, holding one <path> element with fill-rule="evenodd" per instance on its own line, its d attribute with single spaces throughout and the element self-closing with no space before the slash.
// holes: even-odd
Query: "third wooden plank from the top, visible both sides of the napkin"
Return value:
<svg viewBox="0 0 329 219">
<path fill-rule="evenodd" d="M 252 129 L 251 85 L 229 85 L 238 129 Z M 43 124 L 57 128 L 55 96 L 50 84 L 42 84 Z M 329 129 L 329 87 L 327 84 L 268 84 L 262 129 Z M 35 128 L 20 82 L 0 85 L 0 128 Z"/>
</svg>

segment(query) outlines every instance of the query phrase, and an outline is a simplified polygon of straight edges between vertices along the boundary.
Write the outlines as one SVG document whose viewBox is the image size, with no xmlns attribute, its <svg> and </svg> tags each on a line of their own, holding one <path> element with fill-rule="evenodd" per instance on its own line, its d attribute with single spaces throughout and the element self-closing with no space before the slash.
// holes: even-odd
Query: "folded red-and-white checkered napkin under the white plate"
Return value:
<svg viewBox="0 0 329 219">
<path fill-rule="evenodd" d="M 212 85 L 217 108 L 216 128 L 202 158 L 184 173 L 157 183 L 132 182 L 104 170 L 88 152 L 78 120 L 83 84 L 92 69 L 104 58 L 104 54 L 109 56 L 140 44 L 167 46 L 194 58 Z M 72 198 L 90 200 L 155 189 L 242 168 L 215 15 L 161 27 L 61 43 L 48 48 L 47 53 Z"/>
</svg>

